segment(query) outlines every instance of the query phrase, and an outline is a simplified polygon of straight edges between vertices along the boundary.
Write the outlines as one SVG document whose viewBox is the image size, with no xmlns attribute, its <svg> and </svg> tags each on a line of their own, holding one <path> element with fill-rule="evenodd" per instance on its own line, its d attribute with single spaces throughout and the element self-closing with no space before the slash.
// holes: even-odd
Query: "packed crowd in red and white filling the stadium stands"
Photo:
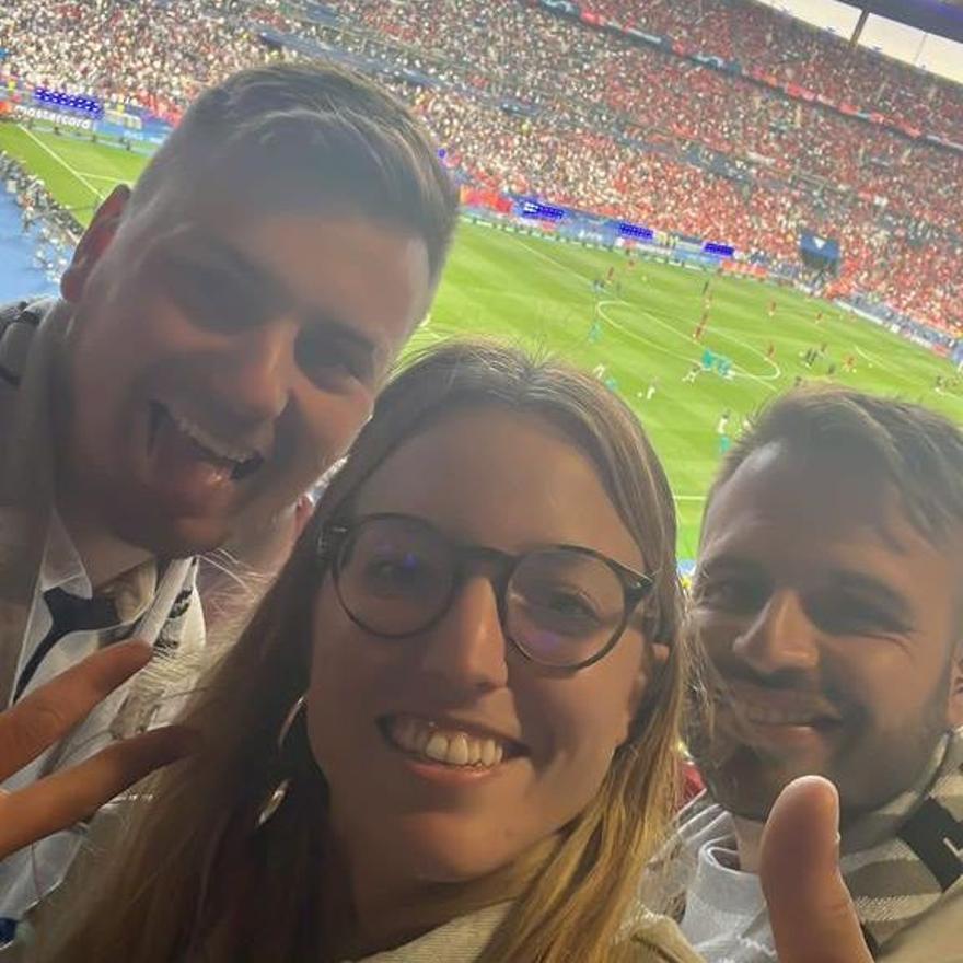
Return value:
<svg viewBox="0 0 963 963">
<path fill-rule="evenodd" d="M 812 31 L 756 8 L 758 16 L 746 16 L 743 5 L 634 9 L 640 25 L 693 46 L 718 39 L 727 57 L 749 57 L 759 44 L 781 56 L 785 32 L 790 50 L 816 44 Z M 604 12 L 622 16 L 625 9 L 616 8 Z M 941 327 L 963 322 L 963 192 L 955 189 L 963 154 L 519 0 L 336 0 L 330 9 L 334 21 L 309 20 L 306 8 L 294 20 L 297 5 L 282 13 L 276 0 L 190 0 L 189 15 L 184 4 L 175 13 L 154 0 L 14 0 L 0 12 L 0 48 L 8 51 L 0 71 L 173 117 L 198 85 L 276 56 L 250 27 L 268 25 L 315 44 L 320 55 L 349 51 L 395 78 L 394 89 L 475 186 L 537 194 L 784 263 L 797 259 L 801 230 L 835 236 L 839 292 L 875 295 Z M 837 46 L 828 37 L 823 46 L 835 63 Z M 906 71 L 866 57 L 852 63 L 871 62 L 875 84 L 862 67 L 847 68 L 840 77 L 863 80 L 847 80 L 840 96 L 909 111 L 894 93 Z M 766 61 L 767 70 L 777 68 Z M 961 100 L 932 79 L 905 89 L 926 96 L 927 116 L 942 117 L 944 104 L 951 112 Z"/>
</svg>

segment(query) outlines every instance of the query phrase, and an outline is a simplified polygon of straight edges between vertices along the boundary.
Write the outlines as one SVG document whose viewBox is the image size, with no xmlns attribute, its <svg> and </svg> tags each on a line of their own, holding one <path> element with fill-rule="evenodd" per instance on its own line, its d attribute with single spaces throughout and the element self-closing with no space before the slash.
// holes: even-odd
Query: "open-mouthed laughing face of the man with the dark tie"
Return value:
<svg viewBox="0 0 963 963">
<path fill-rule="evenodd" d="M 160 556 L 293 503 L 348 446 L 428 305 L 421 239 L 241 200 L 176 222 L 152 204 L 119 230 L 123 199 L 108 202 L 65 278 L 60 483 Z"/>
</svg>

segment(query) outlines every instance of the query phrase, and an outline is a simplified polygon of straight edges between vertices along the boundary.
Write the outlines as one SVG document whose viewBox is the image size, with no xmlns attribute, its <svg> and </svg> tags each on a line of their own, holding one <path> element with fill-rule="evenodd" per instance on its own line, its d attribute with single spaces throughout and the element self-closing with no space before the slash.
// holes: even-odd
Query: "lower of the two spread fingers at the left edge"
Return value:
<svg viewBox="0 0 963 963">
<path fill-rule="evenodd" d="M 183 726 L 154 729 L 0 797 L 0 858 L 91 815 L 149 773 L 188 755 L 197 744 L 197 733 Z"/>
</svg>

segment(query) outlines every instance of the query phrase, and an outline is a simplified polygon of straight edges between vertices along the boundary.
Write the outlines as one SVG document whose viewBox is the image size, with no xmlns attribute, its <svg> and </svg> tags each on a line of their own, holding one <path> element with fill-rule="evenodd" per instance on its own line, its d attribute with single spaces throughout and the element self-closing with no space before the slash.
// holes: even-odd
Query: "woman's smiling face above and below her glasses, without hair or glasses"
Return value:
<svg viewBox="0 0 963 963">
<path fill-rule="evenodd" d="M 511 555 L 578 545 L 646 571 L 592 462 L 548 421 L 508 408 L 459 411 L 406 441 L 358 494 L 357 515 L 381 512 Z M 633 617 L 595 664 L 546 671 L 506 640 L 488 571 L 473 570 L 440 619 L 399 639 L 352 622 L 328 575 L 308 729 L 349 861 L 367 854 L 411 880 L 471 880 L 570 822 L 648 685 L 640 625 Z M 429 735 L 436 756 L 446 740 L 446 762 L 425 752 Z"/>
</svg>

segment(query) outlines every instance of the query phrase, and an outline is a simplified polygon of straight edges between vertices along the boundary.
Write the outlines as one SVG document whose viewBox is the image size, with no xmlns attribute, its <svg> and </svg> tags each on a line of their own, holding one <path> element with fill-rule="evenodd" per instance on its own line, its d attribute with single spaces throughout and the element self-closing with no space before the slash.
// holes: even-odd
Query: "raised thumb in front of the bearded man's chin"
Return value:
<svg viewBox="0 0 963 963">
<path fill-rule="evenodd" d="M 759 878 L 779 963 L 872 963 L 839 872 L 839 797 L 821 776 L 782 790 L 763 834 Z"/>
</svg>

